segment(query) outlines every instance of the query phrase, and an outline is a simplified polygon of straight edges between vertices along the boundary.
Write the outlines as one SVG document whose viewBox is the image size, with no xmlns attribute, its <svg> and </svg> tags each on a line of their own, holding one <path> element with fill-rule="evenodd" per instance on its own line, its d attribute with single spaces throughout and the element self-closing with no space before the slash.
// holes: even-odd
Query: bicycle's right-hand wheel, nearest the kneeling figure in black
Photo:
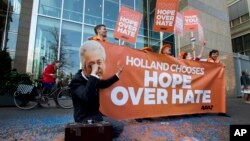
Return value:
<svg viewBox="0 0 250 141">
<path fill-rule="evenodd" d="M 72 96 L 69 88 L 62 89 L 58 93 L 57 102 L 62 108 L 69 109 L 73 107 Z"/>
</svg>

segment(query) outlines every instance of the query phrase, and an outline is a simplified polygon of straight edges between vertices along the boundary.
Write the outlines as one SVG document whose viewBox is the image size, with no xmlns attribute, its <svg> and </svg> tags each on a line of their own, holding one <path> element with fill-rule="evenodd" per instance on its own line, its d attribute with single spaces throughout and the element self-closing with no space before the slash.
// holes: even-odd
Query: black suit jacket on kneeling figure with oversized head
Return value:
<svg viewBox="0 0 250 141">
<path fill-rule="evenodd" d="M 116 75 L 107 80 L 99 80 L 90 75 L 86 80 L 82 76 L 82 70 L 79 70 L 69 85 L 74 105 L 75 122 L 83 122 L 88 119 L 101 121 L 99 88 L 107 88 L 118 80 Z"/>
</svg>

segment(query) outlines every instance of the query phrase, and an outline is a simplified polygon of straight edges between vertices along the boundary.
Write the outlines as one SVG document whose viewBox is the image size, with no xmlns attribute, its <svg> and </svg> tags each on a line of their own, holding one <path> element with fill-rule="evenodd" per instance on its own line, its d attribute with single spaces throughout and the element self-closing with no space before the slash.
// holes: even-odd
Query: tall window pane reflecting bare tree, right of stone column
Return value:
<svg viewBox="0 0 250 141">
<path fill-rule="evenodd" d="M 41 76 L 44 67 L 57 59 L 59 47 L 59 20 L 38 17 L 35 38 L 33 72 Z"/>
</svg>

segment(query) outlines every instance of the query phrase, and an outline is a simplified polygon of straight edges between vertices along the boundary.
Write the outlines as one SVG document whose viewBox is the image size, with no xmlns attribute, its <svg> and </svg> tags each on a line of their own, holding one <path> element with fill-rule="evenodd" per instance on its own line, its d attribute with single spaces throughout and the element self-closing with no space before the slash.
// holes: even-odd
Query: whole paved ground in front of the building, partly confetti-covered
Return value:
<svg viewBox="0 0 250 141">
<path fill-rule="evenodd" d="M 250 124 L 250 104 L 227 96 L 227 115 L 174 116 L 123 121 L 118 141 L 227 141 L 229 126 Z M 63 141 L 64 127 L 73 122 L 73 109 L 55 106 L 20 110 L 0 107 L 0 141 Z"/>
</svg>

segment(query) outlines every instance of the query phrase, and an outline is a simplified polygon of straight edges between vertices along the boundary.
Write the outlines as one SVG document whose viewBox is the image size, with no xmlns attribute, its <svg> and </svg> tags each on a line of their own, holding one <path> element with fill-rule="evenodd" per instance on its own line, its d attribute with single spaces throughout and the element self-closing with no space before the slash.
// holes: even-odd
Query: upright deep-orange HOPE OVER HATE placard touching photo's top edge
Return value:
<svg viewBox="0 0 250 141">
<path fill-rule="evenodd" d="M 154 17 L 154 31 L 174 32 L 179 0 L 157 0 Z"/>
</svg>

